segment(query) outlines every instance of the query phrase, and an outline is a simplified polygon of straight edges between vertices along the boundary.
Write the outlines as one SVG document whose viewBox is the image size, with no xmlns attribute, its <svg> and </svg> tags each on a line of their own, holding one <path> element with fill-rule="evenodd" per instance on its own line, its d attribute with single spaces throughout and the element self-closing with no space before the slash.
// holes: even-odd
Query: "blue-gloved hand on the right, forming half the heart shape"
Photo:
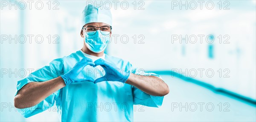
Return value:
<svg viewBox="0 0 256 122">
<path fill-rule="evenodd" d="M 121 70 L 101 58 L 94 61 L 94 63 L 95 66 L 93 67 L 100 65 L 106 72 L 106 74 L 103 77 L 96 79 L 94 83 L 99 83 L 102 81 L 119 81 L 125 83 L 125 81 L 130 76 L 129 71 L 125 71 L 124 69 Z"/>
</svg>

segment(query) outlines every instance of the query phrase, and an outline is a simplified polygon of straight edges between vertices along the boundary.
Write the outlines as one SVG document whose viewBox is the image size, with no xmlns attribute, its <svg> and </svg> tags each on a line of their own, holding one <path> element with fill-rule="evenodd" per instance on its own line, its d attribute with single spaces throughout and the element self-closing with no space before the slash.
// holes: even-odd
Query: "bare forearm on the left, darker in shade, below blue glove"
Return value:
<svg viewBox="0 0 256 122">
<path fill-rule="evenodd" d="M 44 82 L 30 82 L 23 86 L 15 96 L 15 107 L 32 107 L 64 86 L 66 85 L 61 77 Z"/>
</svg>

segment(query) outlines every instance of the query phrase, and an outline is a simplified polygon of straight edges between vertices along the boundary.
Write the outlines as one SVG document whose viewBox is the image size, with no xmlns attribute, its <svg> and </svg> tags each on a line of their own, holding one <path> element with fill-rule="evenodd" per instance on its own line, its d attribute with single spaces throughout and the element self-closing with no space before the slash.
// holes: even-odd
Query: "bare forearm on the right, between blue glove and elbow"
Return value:
<svg viewBox="0 0 256 122">
<path fill-rule="evenodd" d="M 164 96 L 169 93 L 168 85 L 162 79 L 155 76 L 135 75 L 131 73 L 125 83 L 154 96 Z"/>
</svg>

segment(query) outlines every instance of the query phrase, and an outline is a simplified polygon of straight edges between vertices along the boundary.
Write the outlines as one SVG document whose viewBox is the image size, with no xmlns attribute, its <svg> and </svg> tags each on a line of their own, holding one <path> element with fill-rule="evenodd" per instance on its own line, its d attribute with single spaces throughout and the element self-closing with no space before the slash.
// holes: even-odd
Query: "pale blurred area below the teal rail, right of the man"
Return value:
<svg viewBox="0 0 256 122">
<path fill-rule="evenodd" d="M 145 110 L 134 112 L 134 121 L 148 122 L 255 122 L 256 105 L 187 82 L 171 75 L 161 75 L 167 81 L 170 93 L 160 108 L 137 105 Z M 164 113 L 160 111 L 165 111 Z M 145 116 L 147 115 L 146 119 Z M 168 117 L 167 117 L 168 116 Z"/>
</svg>

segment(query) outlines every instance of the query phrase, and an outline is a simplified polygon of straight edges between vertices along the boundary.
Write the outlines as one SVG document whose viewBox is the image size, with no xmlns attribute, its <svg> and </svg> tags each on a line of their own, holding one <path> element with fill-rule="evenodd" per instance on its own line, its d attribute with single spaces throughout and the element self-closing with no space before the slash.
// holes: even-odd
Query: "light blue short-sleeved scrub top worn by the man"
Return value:
<svg viewBox="0 0 256 122">
<path fill-rule="evenodd" d="M 17 92 L 29 82 L 44 82 L 67 73 L 84 57 L 86 55 L 79 50 L 69 56 L 53 60 L 49 65 L 18 81 Z M 120 58 L 105 54 L 105 60 L 119 69 L 128 69 L 137 75 L 153 75 L 160 78 L 154 73 L 139 71 L 128 61 Z M 91 66 L 86 66 L 83 72 L 94 80 L 104 75 L 99 68 Z M 55 104 L 61 121 L 133 121 L 133 105 L 160 107 L 162 102 L 163 97 L 146 94 L 127 83 L 103 81 L 94 84 L 84 81 L 71 83 L 51 94 L 41 103 L 30 108 L 18 109 L 18 111 L 27 118 Z"/>
</svg>

